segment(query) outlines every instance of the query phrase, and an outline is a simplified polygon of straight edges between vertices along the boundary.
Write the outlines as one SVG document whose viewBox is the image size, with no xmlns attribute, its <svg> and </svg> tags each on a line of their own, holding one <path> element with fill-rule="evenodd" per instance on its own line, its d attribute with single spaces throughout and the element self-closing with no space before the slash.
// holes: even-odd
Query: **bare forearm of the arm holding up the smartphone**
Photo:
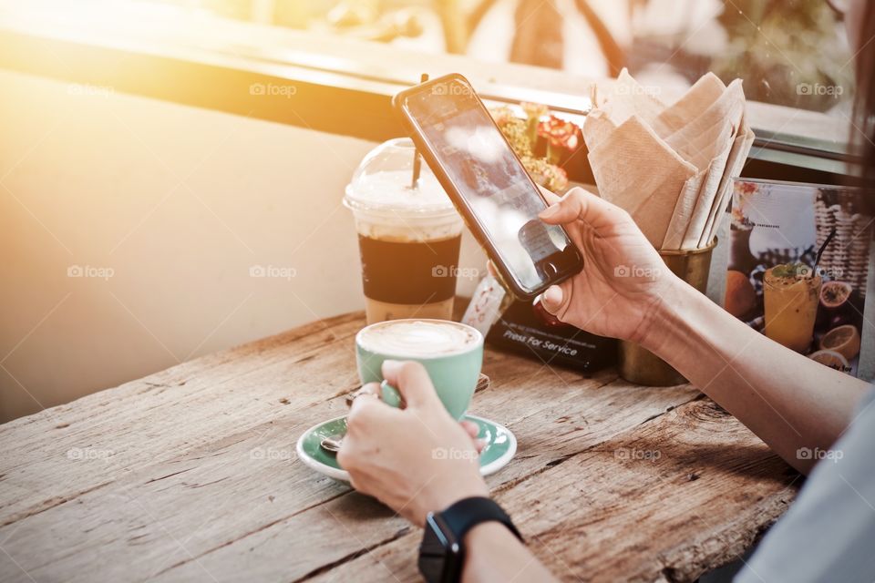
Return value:
<svg viewBox="0 0 875 583">
<path fill-rule="evenodd" d="M 828 449 L 869 385 L 756 332 L 680 280 L 667 286 L 643 345 L 736 416 L 787 463 Z"/>
</svg>

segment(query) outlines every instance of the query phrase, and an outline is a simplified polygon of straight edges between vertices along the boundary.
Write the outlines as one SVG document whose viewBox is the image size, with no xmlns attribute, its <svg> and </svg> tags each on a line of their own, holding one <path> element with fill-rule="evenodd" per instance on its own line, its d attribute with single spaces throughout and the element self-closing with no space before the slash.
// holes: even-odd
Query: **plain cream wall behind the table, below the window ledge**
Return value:
<svg viewBox="0 0 875 583">
<path fill-rule="evenodd" d="M 341 197 L 374 144 L 8 71 L 0 96 L 0 420 L 363 308 Z"/>
</svg>

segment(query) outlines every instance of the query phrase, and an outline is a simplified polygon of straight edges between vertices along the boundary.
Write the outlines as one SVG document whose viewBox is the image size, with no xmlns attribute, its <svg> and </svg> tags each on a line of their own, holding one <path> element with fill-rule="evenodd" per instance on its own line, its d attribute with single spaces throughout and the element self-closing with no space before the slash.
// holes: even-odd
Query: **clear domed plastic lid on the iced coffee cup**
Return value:
<svg viewBox="0 0 875 583">
<path fill-rule="evenodd" d="M 453 203 L 425 160 L 421 163 L 417 186 L 413 187 L 415 154 L 410 138 L 390 139 L 372 149 L 346 187 L 345 205 L 353 210 L 401 215 L 456 214 Z"/>
</svg>

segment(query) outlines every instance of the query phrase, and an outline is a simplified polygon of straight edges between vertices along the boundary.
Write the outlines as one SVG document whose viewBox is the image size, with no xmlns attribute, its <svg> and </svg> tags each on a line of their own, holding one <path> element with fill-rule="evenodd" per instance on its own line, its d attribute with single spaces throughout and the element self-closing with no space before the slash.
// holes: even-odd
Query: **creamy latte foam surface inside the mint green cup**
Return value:
<svg viewBox="0 0 875 583">
<path fill-rule="evenodd" d="M 480 338 L 467 326 L 436 321 L 380 322 L 358 332 L 358 343 L 367 351 L 411 358 L 465 352 Z"/>
</svg>

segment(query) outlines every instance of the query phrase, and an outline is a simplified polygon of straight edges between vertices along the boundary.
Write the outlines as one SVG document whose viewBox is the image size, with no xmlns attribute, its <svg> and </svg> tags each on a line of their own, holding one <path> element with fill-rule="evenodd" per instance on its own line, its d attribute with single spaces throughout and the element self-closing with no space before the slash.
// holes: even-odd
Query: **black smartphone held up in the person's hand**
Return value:
<svg viewBox="0 0 875 583">
<path fill-rule="evenodd" d="M 547 201 L 465 77 L 412 87 L 397 94 L 393 105 L 518 299 L 534 298 L 583 269 L 568 233 L 538 218 Z"/>
</svg>

